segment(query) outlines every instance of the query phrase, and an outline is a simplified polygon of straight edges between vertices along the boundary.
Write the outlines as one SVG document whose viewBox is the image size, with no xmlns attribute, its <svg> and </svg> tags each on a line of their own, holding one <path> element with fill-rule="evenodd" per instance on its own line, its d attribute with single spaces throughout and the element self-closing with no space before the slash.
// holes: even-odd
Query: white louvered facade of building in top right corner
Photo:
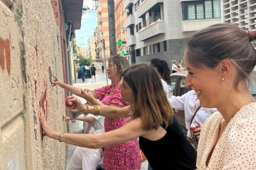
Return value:
<svg viewBox="0 0 256 170">
<path fill-rule="evenodd" d="M 222 11 L 224 22 L 256 31 L 256 0 L 222 0 Z"/>
</svg>

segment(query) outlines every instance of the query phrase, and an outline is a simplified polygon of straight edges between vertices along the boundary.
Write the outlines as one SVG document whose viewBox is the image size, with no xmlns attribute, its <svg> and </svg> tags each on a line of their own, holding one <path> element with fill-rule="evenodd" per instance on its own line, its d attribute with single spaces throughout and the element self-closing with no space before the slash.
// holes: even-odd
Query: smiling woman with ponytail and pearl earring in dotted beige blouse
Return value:
<svg viewBox="0 0 256 170">
<path fill-rule="evenodd" d="M 222 23 L 188 40 L 185 86 L 194 88 L 200 105 L 217 108 L 203 125 L 197 150 L 198 169 L 256 167 L 256 100 L 246 81 L 256 65 L 251 44 L 255 31 Z"/>
</svg>

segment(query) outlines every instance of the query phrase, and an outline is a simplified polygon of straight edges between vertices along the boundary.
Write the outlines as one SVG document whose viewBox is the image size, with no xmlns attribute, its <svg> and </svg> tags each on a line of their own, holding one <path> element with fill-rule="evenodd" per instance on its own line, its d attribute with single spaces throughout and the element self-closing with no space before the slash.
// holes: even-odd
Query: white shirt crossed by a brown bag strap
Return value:
<svg viewBox="0 0 256 170">
<path fill-rule="evenodd" d="M 200 100 L 197 99 L 197 95 L 195 94 L 194 90 L 188 91 L 186 94 L 183 94 L 182 96 L 171 96 L 171 98 L 168 98 L 171 106 L 175 110 L 184 110 L 185 113 L 185 124 L 187 128 L 187 137 L 190 138 L 191 134 L 189 133 L 190 128 L 190 121 L 196 112 L 197 108 L 200 106 Z M 214 112 L 217 112 L 218 110 L 216 108 L 208 109 L 205 107 L 201 107 L 193 122 L 197 121 L 200 123 L 201 126 L 203 126 L 204 121 L 212 115 Z M 179 114 L 179 113 L 178 113 Z"/>
</svg>

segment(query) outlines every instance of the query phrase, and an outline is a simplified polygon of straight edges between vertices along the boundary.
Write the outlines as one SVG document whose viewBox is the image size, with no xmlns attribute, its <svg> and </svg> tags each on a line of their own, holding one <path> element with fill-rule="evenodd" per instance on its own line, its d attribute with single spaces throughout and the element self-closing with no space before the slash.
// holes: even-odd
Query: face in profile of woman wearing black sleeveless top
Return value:
<svg viewBox="0 0 256 170">
<path fill-rule="evenodd" d="M 133 103 L 134 100 L 134 95 L 133 95 L 133 90 L 130 88 L 128 83 L 123 80 L 122 85 L 119 87 L 119 90 L 121 91 L 122 95 L 122 100 L 125 102 L 130 102 Z"/>
</svg>

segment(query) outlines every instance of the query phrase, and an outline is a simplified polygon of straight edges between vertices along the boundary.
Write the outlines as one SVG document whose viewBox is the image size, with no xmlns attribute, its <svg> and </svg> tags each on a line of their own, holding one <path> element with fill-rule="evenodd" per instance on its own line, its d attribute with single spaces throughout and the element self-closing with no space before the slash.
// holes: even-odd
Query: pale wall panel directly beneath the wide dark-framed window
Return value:
<svg viewBox="0 0 256 170">
<path fill-rule="evenodd" d="M 213 24 L 221 23 L 221 19 L 207 19 L 207 20 L 187 20 L 181 21 L 181 31 L 189 32 L 189 31 L 198 31 L 202 28 L 206 28 Z"/>
</svg>

